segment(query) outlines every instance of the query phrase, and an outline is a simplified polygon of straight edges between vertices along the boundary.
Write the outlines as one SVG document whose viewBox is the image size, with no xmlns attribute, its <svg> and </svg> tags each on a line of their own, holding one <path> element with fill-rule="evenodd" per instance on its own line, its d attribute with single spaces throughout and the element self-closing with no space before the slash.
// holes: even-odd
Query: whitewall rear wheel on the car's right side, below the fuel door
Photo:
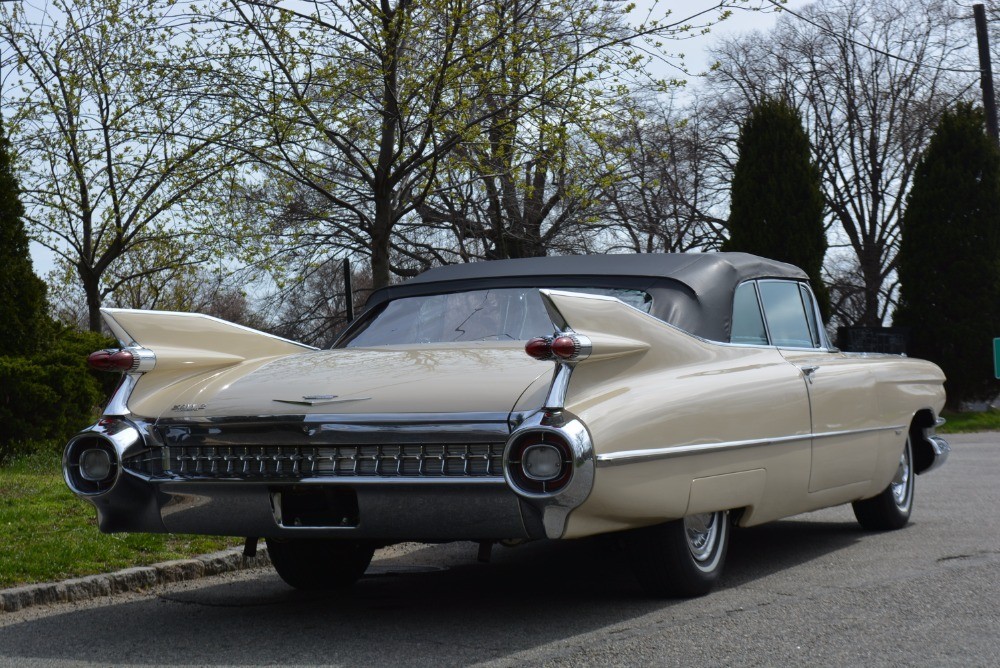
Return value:
<svg viewBox="0 0 1000 668">
<path fill-rule="evenodd" d="M 702 513 L 633 529 L 627 535 L 636 577 L 654 596 L 703 596 L 722 575 L 729 514 Z"/>
</svg>

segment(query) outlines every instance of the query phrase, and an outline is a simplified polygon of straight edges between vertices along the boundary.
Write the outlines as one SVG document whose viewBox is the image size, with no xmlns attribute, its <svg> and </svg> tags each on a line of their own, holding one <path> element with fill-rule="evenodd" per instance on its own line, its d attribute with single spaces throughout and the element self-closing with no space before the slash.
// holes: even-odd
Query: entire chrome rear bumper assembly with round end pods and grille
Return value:
<svg viewBox="0 0 1000 668">
<path fill-rule="evenodd" d="M 385 542 L 560 537 L 589 493 L 592 458 L 581 457 L 572 490 L 526 498 L 505 481 L 501 460 L 517 426 L 537 426 L 509 424 L 506 414 L 474 417 L 105 418 L 69 442 L 64 472 L 97 508 L 104 532 Z M 106 481 L 81 466 L 95 449 L 113 454 Z"/>
</svg>

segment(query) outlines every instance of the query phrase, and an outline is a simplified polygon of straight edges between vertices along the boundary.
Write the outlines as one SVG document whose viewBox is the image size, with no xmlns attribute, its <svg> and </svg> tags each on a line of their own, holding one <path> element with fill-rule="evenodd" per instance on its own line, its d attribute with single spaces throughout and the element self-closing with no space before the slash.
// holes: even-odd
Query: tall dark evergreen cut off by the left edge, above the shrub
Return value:
<svg viewBox="0 0 1000 668">
<path fill-rule="evenodd" d="M 48 335 L 45 283 L 35 275 L 24 231 L 24 207 L 0 126 L 0 355 L 28 355 Z"/>
</svg>

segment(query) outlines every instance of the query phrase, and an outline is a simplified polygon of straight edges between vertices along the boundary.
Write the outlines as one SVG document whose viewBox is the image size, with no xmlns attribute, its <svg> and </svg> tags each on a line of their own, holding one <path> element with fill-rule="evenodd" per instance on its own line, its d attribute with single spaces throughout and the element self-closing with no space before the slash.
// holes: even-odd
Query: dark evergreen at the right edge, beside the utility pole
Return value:
<svg viewBox="0 0 1000 668">
<path fill-rule="evenodd" d="M 944 113 L 913 177 L 902 219 L 900 303 L 910 352 L 948 377 L 948 404 L 989 399 L 1000 336 L 1000 148 L 981 109 Z"/>
</svg>

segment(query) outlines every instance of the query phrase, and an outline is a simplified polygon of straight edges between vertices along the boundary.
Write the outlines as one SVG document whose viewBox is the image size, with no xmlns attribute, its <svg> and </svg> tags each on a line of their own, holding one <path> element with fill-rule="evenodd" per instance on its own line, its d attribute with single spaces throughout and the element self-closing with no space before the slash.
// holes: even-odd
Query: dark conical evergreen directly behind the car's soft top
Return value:
<svg viewBox="0 0 1000 668">
<path fill-rule="evenodd" d="M 800 267 L 827 317 L 829 293 L 820 274 L 827 248 L 823 193 L 799 113 L 784 100 L 765 99 L 740 127 L 737 149 L 722 250 Z"/>
</svg>

